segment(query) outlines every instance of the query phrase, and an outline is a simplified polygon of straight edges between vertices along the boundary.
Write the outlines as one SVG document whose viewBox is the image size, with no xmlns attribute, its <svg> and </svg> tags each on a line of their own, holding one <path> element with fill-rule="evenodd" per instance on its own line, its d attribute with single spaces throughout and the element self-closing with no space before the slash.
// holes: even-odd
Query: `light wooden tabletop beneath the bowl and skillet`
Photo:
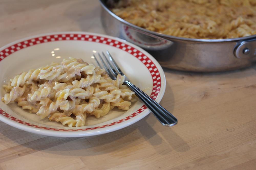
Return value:
<svg viewBox="0 0 256 170">
<path fill-rule="evenodd" d="M 104 33 L 90 0 L 0 1 L 0 46 L 54 31 Z M 164 69 L 161 104 L 179 120 L 150 114 L 109 134 L 36 135 L 0 123 L 0 169 L 255 169 L 256 66 L 224 73 Z"/>
</svg>

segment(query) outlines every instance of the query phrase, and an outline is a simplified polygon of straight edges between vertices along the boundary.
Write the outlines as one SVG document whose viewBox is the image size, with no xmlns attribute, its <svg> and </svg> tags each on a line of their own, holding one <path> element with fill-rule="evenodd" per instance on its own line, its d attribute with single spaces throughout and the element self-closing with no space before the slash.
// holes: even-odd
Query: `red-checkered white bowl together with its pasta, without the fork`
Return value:
<svg viewBox="0 0 256 170">
<path fill-rule="evenodd" d="M 104 134 L 150 111 L 95 63 L 109 50 L 131 82 L 159 102 L 161 66 L 146 51 L 121 39 L 86 32 L 28 37 L 0 49 L 0 120 L 28 132 L 60 137 Z M 143 81 L 142 81 L 143 77 Z"/>
</svg>

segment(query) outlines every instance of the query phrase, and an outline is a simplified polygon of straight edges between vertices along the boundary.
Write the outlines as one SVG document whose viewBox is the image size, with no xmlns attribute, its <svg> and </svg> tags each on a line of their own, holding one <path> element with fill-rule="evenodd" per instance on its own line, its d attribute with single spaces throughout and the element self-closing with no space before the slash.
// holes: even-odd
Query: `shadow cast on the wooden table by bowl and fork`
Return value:
<svg viewBox="0 0 256 170">
<path fill-rule="evenodd" d="M 167 84 L 167 88 L 170 88 L 169 84 Z M 170 103 L 165 101 L 170 101 Z M 169 92 L 168 95 L 164 95 L 161 104 L 166 108 L 168 106 L 169 111 L 172 112 L 174 109 L 173 93 Z M 16 142 L 19 145 L 8 148 L 6 151 L 2 150 L 4 155 L 0 156 L 0 160 L 12 157 L 17 158 L 37 151 L 41 151 L 44 153 L 43 155 L 48 156 L 56 154 L 90 156 L 112 152 L 133 154 L 141 149 L 145 150 L 145 147 L 148 147 L 150 152 L 157 154 L 165 154 L 172 150 L 178 152 L 189 150 L 188 144 L 172 130 L 173 127 L 162 126 L 152 114 L 147 115 L 144 119 L 131 126 L 115 132 L 82 138 L 41 136 L 9 125 L 3 127 L 4 129 L 0 133 L 6 138 L 2 138 L 2 140 Z M 24 142 L 24 139 L 27 138 L 30 139 L 28 140 L 29 142 Z M 162 146 L 159 147 L 159 145 Z"/>
</svg>

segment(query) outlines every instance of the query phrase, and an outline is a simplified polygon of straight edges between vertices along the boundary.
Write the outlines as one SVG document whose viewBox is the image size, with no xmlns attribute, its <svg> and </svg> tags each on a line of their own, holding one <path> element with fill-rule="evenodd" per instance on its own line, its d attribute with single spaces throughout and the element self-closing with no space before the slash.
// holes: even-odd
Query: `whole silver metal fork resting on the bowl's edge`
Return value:
<svg viewBox="0 0 256 170">
<path fill-rule="evenodd" d="M 147 106 L 147 108 L 154 114 L 154 116 L 161 122 L 164 126 L 173 126 L 176 125 L 178 120 L 174 117 L 170 112 L 168 112 L 165 108 L 163 108 L 160 104 L 158 104 L 155 100 L 149 97 L 146 93 L 144 93 L 141 89 L 132 84 L 129 79 L 124 75 L 119 66 L 116 64 L 113 57 L 110 55 L 109 51 L 106 51 L 107 56 L 102 52 L 103 57 L 98 53 L 98 56 L 103 64 L 104 69 L 109 74 L 112 80 L 116 80 L 116 76 L 121 74 L 125 77 L 124 84 L 128 86 L 132 91 L 134 91 L 135 95 Z M 100 68 L 102 68 L 99 60 L 93 54 L 94 59 Z M 105 61 L 106 62 L 105 62 Z"/>
</svg>

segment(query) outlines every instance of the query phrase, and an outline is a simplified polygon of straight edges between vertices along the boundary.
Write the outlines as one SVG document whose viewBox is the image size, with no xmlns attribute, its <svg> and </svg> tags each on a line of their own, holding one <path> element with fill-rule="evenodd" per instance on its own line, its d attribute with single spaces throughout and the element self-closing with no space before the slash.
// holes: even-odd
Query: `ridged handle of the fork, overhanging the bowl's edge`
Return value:
<svg viewBox="0 0 256 170">
<path fill-rule="evenodd" d="M 165 126 L 173 126 L 178 123 L 176 117 L 174 117 L 170 112 L 168 112 L 165 108 L 163 108 L 160 104 L 158 104 L 155 100 L 149 97 L 146 93 L 144 93 L 141 89 L 136 87 L 131 82 L 124 82 L 132 91 L 134 91 L 135 95 L 147 106 L 147 108 L 154 114 L 154 116 Z"/>
</svg>

